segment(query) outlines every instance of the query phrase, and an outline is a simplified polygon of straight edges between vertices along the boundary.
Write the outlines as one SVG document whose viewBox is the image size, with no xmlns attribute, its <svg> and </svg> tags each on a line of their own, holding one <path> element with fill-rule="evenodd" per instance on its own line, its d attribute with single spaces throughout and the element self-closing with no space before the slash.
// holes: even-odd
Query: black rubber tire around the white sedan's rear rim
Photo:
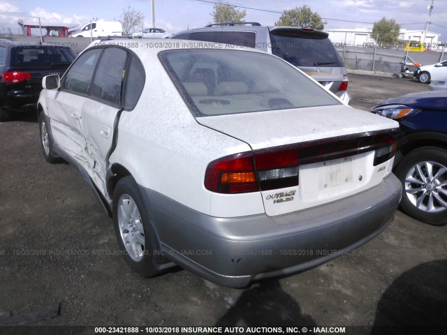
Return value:
<svg viewBox="0 0 447 335">
<path fill-rule="evenodd" d="M 138 211 L 140 212 L 141 222 L 144 228 L 145 252 L 143 253 L 142 259 L 138 262 L 129 256 L 119 231 L 118 204 L 122 195 L 129 195 L 135 202 Z M 121 248 L 124 259 L 129 267 L 143 277 L 152 277 L 159 274 L 160 271 L 154 262 L 154 255 L 156 255 L 156 251 L 160 250 L 159 241 L 156 238 L 154 229 L 149 222 L 147 206 L 145 206 L 145 202 L 142 198 L 140 190 L 138 189 L 138 185 L 133 177 L 128 176 L 119 179 L 117 185 L 115 186 L 115 191 L 113 193 L 113 225 L 115 226 L 115 233 L 117 235 L 119 248 Z"/>
</svg>

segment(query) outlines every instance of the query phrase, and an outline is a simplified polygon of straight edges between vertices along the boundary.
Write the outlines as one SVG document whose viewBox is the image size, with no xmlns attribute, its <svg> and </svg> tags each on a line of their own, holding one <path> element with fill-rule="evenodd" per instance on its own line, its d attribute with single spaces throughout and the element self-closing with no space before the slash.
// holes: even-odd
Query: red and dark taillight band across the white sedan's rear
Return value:
<svg viewBox="0 0 447 335">
<path fill-rule="evenodd" d="M 396 132 L 362 133 L 235 154 L 212 161 L 205 188 L 216 193 L 249 193 L 298 186 L 299 165 L 375 151 L 374 166 L 396 149 Z"/>
</svg>

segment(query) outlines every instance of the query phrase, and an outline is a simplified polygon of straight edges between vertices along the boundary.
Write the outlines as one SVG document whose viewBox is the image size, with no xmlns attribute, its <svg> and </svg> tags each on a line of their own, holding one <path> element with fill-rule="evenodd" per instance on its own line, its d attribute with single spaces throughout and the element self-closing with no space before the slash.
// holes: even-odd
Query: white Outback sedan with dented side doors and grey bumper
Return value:
<svg viewBox="0 0 447 335">
<path fill-rule="evenodd" d="M 92 43 L 38 112 L 45 159 L 78 168 L 142 276 L 295 274 L 375 237 L 402 195 L 397 122 L 253 49 Z"/>
</svg>

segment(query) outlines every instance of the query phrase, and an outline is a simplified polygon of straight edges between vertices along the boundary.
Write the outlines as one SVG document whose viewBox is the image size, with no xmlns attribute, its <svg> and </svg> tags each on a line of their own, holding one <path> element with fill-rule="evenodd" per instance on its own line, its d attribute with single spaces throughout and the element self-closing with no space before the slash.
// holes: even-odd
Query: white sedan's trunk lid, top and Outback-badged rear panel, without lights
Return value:
<svg viewBox="0 0 447 335">
<path fill-rule="evenodd" d="M 197 121 L 250 145 L 253 150 L 288 146 L 397 128 L 397 122 L 346 105 L 198 117 Z M 298 186 L 261 191 L 265 213 L 274 216 L 339 200 L 379 184 L 392 161 L 374 166 L 375 151 L 299 165 Z"/>
</svg>

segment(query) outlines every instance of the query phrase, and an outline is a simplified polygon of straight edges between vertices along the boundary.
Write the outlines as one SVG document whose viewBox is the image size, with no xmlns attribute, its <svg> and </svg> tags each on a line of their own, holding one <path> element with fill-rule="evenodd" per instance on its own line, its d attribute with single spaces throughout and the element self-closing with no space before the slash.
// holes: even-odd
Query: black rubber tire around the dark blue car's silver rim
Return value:
<svg viewBox="0 0 447 335">
<path fill-rule="evenodd" d="M 446 225 L 447 224 L 447 209 L 437 213 L 428 213 L 418 209 L 408 198 L 405 192 L 405 177 L 407 172 L 414 165 L 424 161 L 432 161 L 441 165 L 447 166 L 447 150 L 438 147 L 422 147 L 411 151 L 404 156 L 402 162 L 397 166 L 396 176 L 402 183 L 402 200 L 400 207 L 409 216 L 423 221 L 430 225 Z"/>
</svg>

